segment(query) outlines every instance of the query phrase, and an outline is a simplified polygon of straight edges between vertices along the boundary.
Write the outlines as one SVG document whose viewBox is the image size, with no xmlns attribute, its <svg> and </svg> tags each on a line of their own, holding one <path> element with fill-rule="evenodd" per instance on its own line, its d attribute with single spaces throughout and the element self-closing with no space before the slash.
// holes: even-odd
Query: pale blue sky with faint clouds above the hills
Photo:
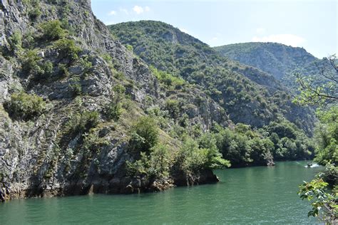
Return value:
<svg viewBox="0 0 338 225">
<path fill-rule="evenodd" d="M 317 58 L 338 53 L 338 0 L 91 0 L 91 6 L 106 25 L 163 21 L 212 47 L 272 41 Z"/>
</svg>

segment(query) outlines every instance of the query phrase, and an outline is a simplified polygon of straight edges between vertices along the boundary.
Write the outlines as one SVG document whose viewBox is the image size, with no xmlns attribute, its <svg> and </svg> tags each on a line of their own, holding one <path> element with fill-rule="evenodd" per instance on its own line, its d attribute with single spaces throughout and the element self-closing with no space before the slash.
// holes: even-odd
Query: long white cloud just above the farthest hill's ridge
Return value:
<svg viewBox="0 0 338 225">
<path fill-rule="evenodd" d="M 306 40 L 294 34 L 285 33 L 285 34 L 272 34 L 269 36 L 262 36 L 262 37 L 254 36 L 252 37 L 252 41 L 277 42 L 277 43 L 283 43 L 287 46 L 299 47 Z"/>
</svg>

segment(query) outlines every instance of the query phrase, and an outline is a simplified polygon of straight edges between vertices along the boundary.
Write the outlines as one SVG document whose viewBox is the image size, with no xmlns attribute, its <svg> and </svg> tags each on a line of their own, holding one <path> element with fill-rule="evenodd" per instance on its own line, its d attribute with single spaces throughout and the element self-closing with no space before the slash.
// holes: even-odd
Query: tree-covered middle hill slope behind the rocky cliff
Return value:
<svg viewBox="0 0 338 225">
<path fill-rule="evenodd" d="M 203 88 L 232 121 L 262 127 L 286 117 L 311 132 L 311 110 L 292 104 L 289 91 L 262 70 L 225 59 L 166 23 L 138 21 L 108 27 L 145 62 Z"/>
</svg>

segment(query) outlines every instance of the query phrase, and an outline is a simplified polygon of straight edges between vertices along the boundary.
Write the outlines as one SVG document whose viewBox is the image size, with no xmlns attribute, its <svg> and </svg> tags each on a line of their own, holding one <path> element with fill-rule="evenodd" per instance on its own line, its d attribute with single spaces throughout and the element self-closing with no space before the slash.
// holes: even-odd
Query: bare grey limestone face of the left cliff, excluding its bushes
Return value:
<svg viewBox="0 0 338 225">
<path fill-rule="evenodd" d="M 111 37 L 93 15 L 90 1 L 40 1 L 41 15 L 34 19 L 32 7 L 23 1 L 0 2 L 0 186 L 5 198 L 133 193 L 172 187 L 172 179 L 151 184 L 130 179 L 124 166 L 132 157 L 128 152 L 130 120 L 144 115 L 147 108 L 164 108 L 167 98 L 177 97 L 175 93 L 167 96 L 148 66 Z M 75 61 L 61 56 L 53 43 L 41 41 L 40 24 L 56 19 L 66 20 L 68 38 L 81 48 Z M 20 51 L 12 51 L 14 33 L 22 37 Z M 38 45 L 29 46 L 29 38 Z M 24 71 L 21 58 L 28 48 L 37 49 L 39 62 L 51 63 L 48 78 Z M 104 110 L 117 95 L 113 91 L 116 85 L 126 86 L 134 110 L 125 112 L 121 122 L 109 122 Z M 19 92 L 43 98 L 45 112 L 27 121 L 14 119 L 4 103 Z M 198 97 L 203 98 L 202 103 L 196 102 Z M 199 90 L 188 88 L 180 100 L 191 103 L 191 108 L 183 107 L 181 112 L 188 115 L 190 124 L 208 129 L 213 121 L 231 123 L 224 110 Z M 98 112 L 98 127 L 91 132 L 66 132 L 70 122 L 85 111 Z M 89 146 L 88 135 L 96 138 Z"/>
</svg>

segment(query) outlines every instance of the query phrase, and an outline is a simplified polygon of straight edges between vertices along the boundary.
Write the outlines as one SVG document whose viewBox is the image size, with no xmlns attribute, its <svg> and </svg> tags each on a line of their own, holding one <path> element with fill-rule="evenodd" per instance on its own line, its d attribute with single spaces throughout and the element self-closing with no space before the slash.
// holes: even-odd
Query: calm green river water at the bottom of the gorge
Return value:
<svg viewBox="0 0 338 225">
<path fill-rule="evenodd" d="M 14 200 L 0 224 L 315 224 L 297 186 L 322 168 L 304 165 L 218 170 L 217 184 L 161 193 Z"/>
</svg>

